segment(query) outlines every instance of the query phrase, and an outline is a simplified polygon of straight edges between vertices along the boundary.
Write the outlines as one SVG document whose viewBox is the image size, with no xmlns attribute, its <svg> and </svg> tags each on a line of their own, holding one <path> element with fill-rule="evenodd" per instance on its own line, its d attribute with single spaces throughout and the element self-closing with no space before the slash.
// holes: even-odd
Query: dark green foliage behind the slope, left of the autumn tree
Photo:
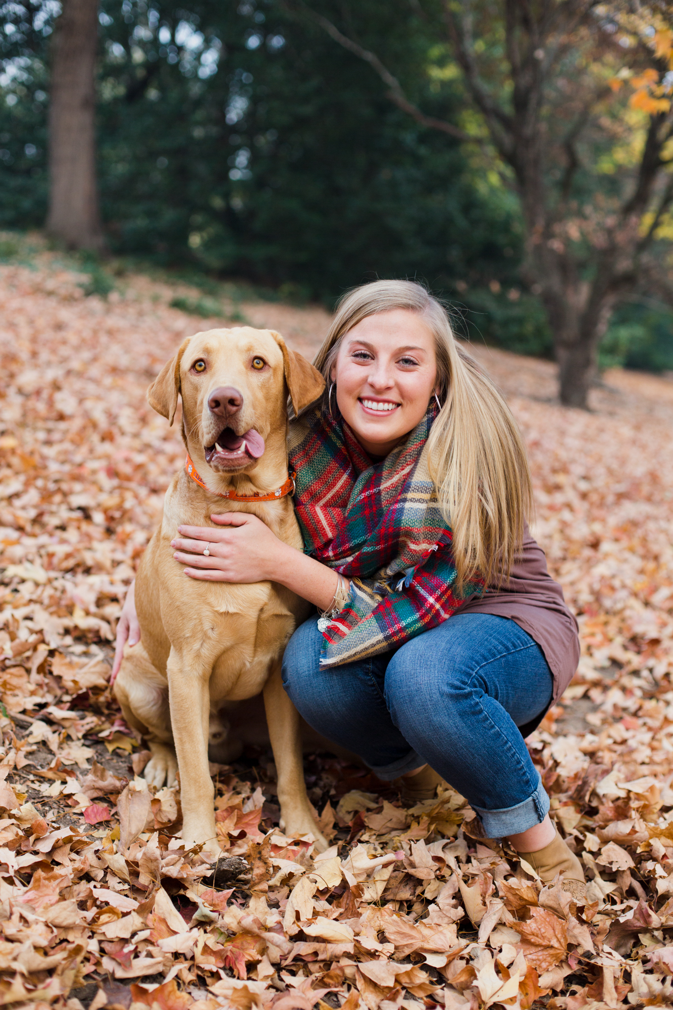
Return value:
<svg viewBox="0 0 673 1010">
<path fill-rule="evenodd" d="M 17 70 L 0 95 L 0 226 L 39 225 L 46 210 L 54 11 L 24 2 L 7 6 L 14 31 L 0 35 Z M 278 0 L 103 0 L 100 20 L 99 188 L 115 255 L 249 278 L 295 302 L 331 304 L 373 277 L 514 283 L 515 201 Z M 459 115 L 455 82 L 424 73 L 435 39 L 405 0 L 385 16 L 366 0 L 358 31 L 425 108 Z"/>
</svg>

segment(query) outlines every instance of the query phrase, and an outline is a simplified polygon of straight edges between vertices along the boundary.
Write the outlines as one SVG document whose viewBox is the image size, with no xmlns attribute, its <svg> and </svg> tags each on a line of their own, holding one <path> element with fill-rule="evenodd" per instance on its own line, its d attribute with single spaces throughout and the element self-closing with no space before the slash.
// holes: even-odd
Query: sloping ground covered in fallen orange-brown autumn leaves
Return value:
<svg viewBox="0 0 673 1010">
<path fill-rule="evenodd" d="M 403 809 L 329 755 L 306 763 L 321 855 L 278 829 L 270 753 L 213 767 L 213 879 L 180 841 L 179 795 L 139 777 L 107 681 L 183 462 L 145 390 L 221 320 L 171 307 L 168 283 L 86 287 L 45 252 L 0 267 L 0 1004 L 673 1005 L 673 383 L 609 374 L 586 414 L 555 404 L 552 365 L 476 350 L 525 434 L 536 533 L 581 625 L 579 672 L 528 744 L 587 904 L 481 839 L 456 793 Z M 242 316 L 305 354 L 326 326 L 280 304 Z"/>
</svg>

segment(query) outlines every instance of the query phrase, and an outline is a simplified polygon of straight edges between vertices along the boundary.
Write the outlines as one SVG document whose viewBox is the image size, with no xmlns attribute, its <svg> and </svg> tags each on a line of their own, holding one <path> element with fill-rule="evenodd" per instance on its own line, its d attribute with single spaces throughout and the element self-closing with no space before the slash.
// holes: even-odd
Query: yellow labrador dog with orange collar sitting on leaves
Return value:
<svg viewBox="0 0 673 1010">
<path fill-rule="evenodd" d="M 287 493 L 287 396 L 298 413 L 323 387 L 322 376 L 280 334 L 242 326 L 190 336 L 148 390 L 151 406 L 171 424 L 182 396 L 188 459 L 166 493 L 162 525 L 140 562 L 141 637 L 126 647 L 114 691 L 124 718 L 152 750 L 146 779 L 171 785 L 179 771 L 183 839 L 202 843 L 213 857 L 219 845 L 208 772 L 210 719 L 215 735 L 221 733 L 217 713 L 225 703 L 261 691 L 281 826 L 291 834 L 310 832 L 326 846 L 306 796 L 299 716 L 280 671 L 285 644 L 308 607 L 275 583 L 189 579 L 171 540 L 179 524 L 210 526 L 212 513 L 242 510 L 301 548 Z M 256 495 L 264 500 L 255 501 Z"/>
</svg>

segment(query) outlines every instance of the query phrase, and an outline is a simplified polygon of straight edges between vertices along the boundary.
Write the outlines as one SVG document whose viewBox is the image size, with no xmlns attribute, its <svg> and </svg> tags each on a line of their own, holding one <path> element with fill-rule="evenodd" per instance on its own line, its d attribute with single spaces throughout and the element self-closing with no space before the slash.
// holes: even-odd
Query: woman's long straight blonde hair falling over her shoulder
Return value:
<svg viewBox="0 0 673 1010">
<path fill-rule="evenodd" d="M 428 437 L 430 475 L 453 530 L 458 588 L 481 577 L 506 581 L 533 511 L 531 472 L 509 407 L 456 340 L 444 306 L 412 281 L 374 281 L 340 300 L 314 365 L 325 378 L 344 335 L 367 316 L 408 309 L 432 331 L 442 409 Z"/>
</svg>

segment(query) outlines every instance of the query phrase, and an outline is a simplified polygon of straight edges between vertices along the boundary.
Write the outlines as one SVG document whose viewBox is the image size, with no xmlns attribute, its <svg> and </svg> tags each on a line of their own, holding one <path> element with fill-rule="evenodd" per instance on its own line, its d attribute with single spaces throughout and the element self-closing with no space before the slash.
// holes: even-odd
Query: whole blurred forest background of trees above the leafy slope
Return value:
<svg viewBox="0 0 673 1010">
<path fill-rule="evenodd" d="M 605 367 L 673 371 L 669 18 L 626 0 L 9 0 L 0 227 L 47 221 L 103 295 L 138 263 L 328 307 L 418 278 L 472 340 L 556 357 L 562 402 L 585 406 Z M 55 103 L 78 87 L 97 192 L 72 233 L 86 143 Z"/>
</svg>

